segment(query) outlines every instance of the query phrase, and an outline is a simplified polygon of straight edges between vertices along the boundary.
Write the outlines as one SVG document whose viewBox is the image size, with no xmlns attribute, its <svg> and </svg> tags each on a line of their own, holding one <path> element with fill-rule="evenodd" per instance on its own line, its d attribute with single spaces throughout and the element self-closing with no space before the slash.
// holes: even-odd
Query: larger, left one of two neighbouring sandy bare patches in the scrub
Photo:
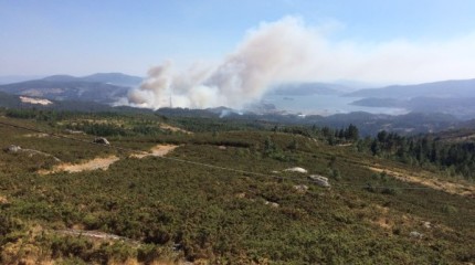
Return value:
<svg viewBox="0 0 475 265">
<path fill-rule="evenodd" d="M 106 158 L 95 158 L 84 163 L 60 163 L 55 166 L 52 170 L 40 170 L 40 174 L 50 174 L 55 172 L 66 171 L 70 173 L 88 171 L 88 170 L 107 170 L 110 165 L 118 161 L 119 158 L 116 156 L 110 156 Z"/>
</svg>

